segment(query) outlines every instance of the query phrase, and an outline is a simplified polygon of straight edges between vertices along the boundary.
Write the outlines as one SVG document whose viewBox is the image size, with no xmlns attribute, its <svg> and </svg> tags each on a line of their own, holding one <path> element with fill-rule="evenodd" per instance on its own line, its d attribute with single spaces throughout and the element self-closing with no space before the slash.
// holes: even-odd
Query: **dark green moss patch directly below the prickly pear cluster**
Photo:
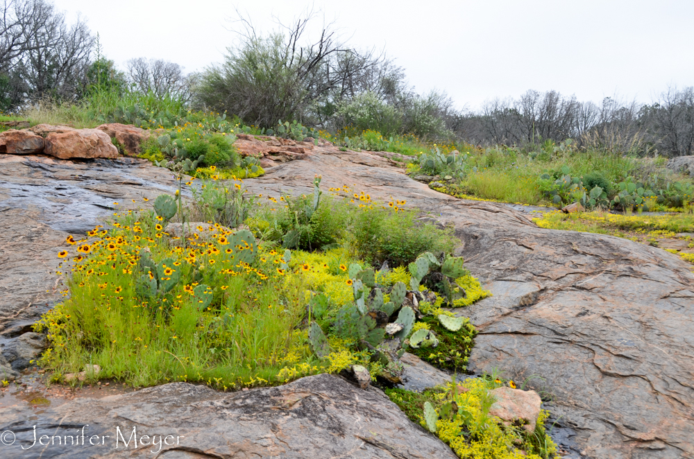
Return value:
<svg viewBox="0 0 694 459">
<path fill-rule="evenodd" d="M 433 315 L 427 315 L 422 322 L 428 325 L 439 338 L 439 345 L 432 348 L 414 349 L 410 347 L 407 352 L 415 354 L 423 361 L 427 361 L 439 368 L 463 372 L 466 370 L 470 352 L 475 344 L 473 338 L 477 330 L 470 322 L 466 322 L 462 329 L 450 331 L 441 326 L 439 319 Z"/>
</svg>

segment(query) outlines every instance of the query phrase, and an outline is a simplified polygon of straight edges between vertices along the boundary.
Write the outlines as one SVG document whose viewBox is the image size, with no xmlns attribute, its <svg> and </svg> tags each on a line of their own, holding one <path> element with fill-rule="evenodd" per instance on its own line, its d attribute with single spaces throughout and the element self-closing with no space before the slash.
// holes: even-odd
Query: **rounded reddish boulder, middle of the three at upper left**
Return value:
<svg viewBox="0 0 694 459">
<path fill-rule="evenodd" d="M 45 143 L 44 153 L 60 159 L 118 157 L 118 148 L 111 143 L 111 138 L 97 129 L 50 132 Z"/>
</svg>

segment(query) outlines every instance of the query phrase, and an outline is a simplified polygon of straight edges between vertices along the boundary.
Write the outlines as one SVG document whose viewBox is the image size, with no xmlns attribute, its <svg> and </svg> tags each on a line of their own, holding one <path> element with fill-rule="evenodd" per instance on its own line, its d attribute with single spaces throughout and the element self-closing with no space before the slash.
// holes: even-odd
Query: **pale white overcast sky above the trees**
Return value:
<svg viewBox="0 0 694 459">
<path fill-rule="evenodd" d="M 55 1 L 87 17 L 122 69 L 144 57 L 201 70 L 237 40 L 235 6 L 262 31 L 313 6 L 314 26 L 335 19 L 350 43 L 385 49 L 418 92 L 442 89 L 472 110 L 527 89 L 650 102 L 694 85 L 694 0 Z"/>
</svg>

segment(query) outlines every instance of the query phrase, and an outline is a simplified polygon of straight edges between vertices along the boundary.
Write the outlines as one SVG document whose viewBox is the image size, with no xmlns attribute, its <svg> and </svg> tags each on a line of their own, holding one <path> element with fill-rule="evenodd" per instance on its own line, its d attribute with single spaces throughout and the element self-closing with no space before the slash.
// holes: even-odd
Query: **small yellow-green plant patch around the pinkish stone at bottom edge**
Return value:
<svg viewBox="0 0 694 459">
<path fill-rule="evenodd" d="M 501 419 L 489 415 L 494 403 L 489 391 L 507 385 L 516 387 L 513 381 L 485 375 L 421 394 L 403 389 L 389 389 L 386 394 L 413 422 L 434 431 L 460 458 L 558 457 L 557 446 L 545 430 L 548 411 L 541 410 L 532 433 L 516 423 L 505 426 Z M 432 417 L 429 422 L 425 419 L 427 405 Z"/>
</svg>

